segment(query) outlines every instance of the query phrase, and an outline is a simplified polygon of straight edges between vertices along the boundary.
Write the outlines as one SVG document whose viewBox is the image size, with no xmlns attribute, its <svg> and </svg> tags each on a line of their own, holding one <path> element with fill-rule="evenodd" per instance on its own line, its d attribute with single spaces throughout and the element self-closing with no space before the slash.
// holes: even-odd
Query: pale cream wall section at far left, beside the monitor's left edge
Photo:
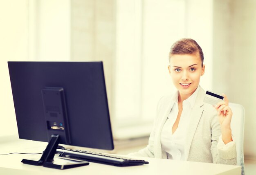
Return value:
<svg viewBox="0 0 256 175">
<path fill-rule="evenodd" d="M 7 61 L 28 58 L 28 0 L 0 1 L 0 136 L 17 134 Z"/>
</svg>

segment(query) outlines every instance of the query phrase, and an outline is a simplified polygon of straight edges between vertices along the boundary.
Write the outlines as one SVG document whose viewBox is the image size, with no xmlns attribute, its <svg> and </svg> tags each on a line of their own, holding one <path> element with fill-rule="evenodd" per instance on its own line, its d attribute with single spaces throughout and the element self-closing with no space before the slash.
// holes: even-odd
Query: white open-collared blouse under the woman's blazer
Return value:
<svg viewBox="0 0 256 175">
<path fill-rule="evenodd" d="M 180 122 L 175 130 L 172 133 L 173 124 L 177 119 L 179 112 L 178 108 L 178 91 L 172 96 L 172 100 L 175 102 L 173 108 L 164 123 L 164 127 L 161 132 L 161 146 L 162 150 L 167 153 L 168 159 L 173 160 L 184 160 L 184 145 L 186 137 L 186 128 L 190 121 L 190 113 L 195 104 L 195 99 L 197 97 L 199 87 L 195 92 L 186 100 L 182 102 L 182 113 L 180 116 Z"/>
</svg>

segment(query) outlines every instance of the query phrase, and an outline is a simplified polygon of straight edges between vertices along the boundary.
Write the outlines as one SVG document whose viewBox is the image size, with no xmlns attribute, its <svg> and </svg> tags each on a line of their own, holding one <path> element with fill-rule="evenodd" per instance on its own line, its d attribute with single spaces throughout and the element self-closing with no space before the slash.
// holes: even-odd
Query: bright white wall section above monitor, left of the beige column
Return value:
<svg viewBox="0 0 256 175">
<path fill-rule="evenodd" d="M 29 0 L 29 60 L 70 60 L 70 0 Z"/>
</svg>

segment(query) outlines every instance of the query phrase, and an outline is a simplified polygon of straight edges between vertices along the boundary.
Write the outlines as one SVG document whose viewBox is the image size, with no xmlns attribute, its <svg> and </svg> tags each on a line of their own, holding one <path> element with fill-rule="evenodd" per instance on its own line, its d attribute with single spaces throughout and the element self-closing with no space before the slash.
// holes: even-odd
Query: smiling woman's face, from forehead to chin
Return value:
<svg viewBox="0 0 256 175">
<path fill-rule="evenodd" d="M 168 65 L 173 84 L 179 90 L 183 99 L 189 98 L 195 92 L 204 74 L 204 65 L 199 54 L 175 54 Z"/>
</svg>

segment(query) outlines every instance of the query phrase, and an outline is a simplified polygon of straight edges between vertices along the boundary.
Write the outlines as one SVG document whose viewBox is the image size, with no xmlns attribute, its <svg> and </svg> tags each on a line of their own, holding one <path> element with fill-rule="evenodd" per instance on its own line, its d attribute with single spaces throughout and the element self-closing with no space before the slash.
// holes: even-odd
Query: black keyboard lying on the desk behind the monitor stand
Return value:
<svg viewBox="0 0 256 175">
<path fill-rule="evenodd" d="M 82 159 L 88 162 L 110 164 L 114 166 L 134 166 L 148 164 L 148 162 L 144 160 L 132 159 L 105 153 L 95 153 L 92 151 L 57 149 L 56 152 L 59 153 L 59 156 L 61 157 L 70 156 L 71 158 Z"/>
</svg>

